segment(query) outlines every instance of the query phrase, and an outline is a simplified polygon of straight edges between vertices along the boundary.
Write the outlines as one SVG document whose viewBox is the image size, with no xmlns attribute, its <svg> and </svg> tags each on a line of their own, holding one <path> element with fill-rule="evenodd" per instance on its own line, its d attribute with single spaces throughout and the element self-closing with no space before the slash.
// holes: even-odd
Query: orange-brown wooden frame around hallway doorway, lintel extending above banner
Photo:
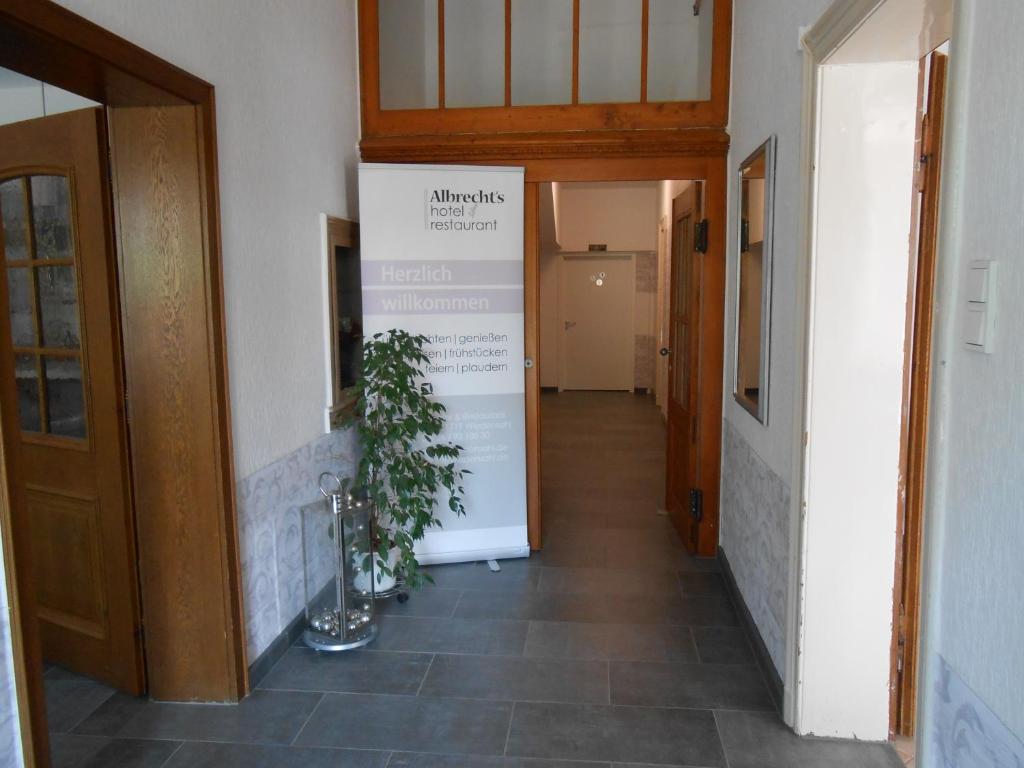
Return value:
<svg viewBox="0 0 1024 768">
<path fill-rule="evenodd" d="M 523 240 L 524 354 L 526 388 L 526 525 L 530 549 L 542 548 L 540 374 L 540 195 L 551 181 L 660 181 L 700 179 L 709 220 L 708 317 L 701 325 L 700 419 L 705 519 L 718 541 L 722 452 L 722 373 L 725 330 L 727 156 L 729 136 L 717 128 L 578 133 L 503 133 L 480 136 L 364 138 L 367 163 L 434 163 L 525 168 Z M 712 372 L 717 372 L 712 375 Z M 710 537 L 709 537 L 710 539 Z"/>
</svg>

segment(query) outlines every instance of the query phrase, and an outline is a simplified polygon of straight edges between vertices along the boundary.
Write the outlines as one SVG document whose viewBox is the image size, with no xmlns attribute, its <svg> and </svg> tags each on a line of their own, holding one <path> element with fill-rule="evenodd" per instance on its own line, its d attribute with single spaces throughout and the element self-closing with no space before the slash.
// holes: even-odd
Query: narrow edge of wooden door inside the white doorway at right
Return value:
<svg viewBox="0 0 1024 768">
<path fill-rule="evenodd" d="M 907 418 L 906 500 L 901 531 L 896 614 L 896 685 L 893 731 L 912 736 L 918 717 L 918 655 L 921 623 L 921 542 L 925 515 L 925 465 L 928 399 L 932 364 L 932 310 L 935 297 L 939 180 L 948 58 L 933 53 L 929 63 L 927 112 L 922 121 L 921 228 L 913 294 L 910 351 L 910 408 Z"/>
</svg>

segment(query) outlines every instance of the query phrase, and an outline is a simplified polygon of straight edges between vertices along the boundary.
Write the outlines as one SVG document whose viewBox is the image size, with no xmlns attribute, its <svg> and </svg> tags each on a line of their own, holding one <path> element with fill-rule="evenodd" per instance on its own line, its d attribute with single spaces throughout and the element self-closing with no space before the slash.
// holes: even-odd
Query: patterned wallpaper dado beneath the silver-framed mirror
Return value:
<svg viewBox="0 0 1024 768">
<path fill-rule="evenodd" d="M 790 487 L 727 420 L 722 429 L 721 516 L 722 549 L 784 680 Z"/>
</svg>

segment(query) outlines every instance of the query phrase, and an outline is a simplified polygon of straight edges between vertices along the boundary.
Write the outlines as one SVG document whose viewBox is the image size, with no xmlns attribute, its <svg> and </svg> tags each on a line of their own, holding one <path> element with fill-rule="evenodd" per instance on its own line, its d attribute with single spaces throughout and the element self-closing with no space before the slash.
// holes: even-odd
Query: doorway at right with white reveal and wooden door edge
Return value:
<svg viewBox="0 0 1024 768">
<path fill-rule="evenodd" d="M 905 504 L 909 483 L 921 479 L 908 468 L 908 444 L 923 438 L 919 431 L 908 440 L 908 414 L 928 400 L 919 321 L 933 297 L 922 290 L 930 257 L 918 241 L 934 238 L 924 222 L 937 209 L 921 195 L 923 170 L 938 161 L 920 122 L 930 85 L 923 59 L 952 26 L 949 6 L 935 8 L 927 25 L 912 14 L 894 25 L 891 11 L 903 7 L 851 16 L 852 34 L 822 20 L 805 36 L 813 130 L 804 172 L 814 194 L 806 198 L 802 265 L 802 467 L 793 518 L 801 550 L 786 686 L 801 734 L 892 737 L 902 727 L 897 709 L 915 695 L 912 683 L 900 690 L 912 677 L 901 674 L 900 646 L 905 654 L 919 642 L 904 617 L 920 589 L 904 577 L 919 567 L 911 526 L 920 536 L 927 520 Z M 929 120 L 941 114 L 934 102 L 929 109 Z M 856 580 L 840 575 L 851 572 Z"/>
</svg>

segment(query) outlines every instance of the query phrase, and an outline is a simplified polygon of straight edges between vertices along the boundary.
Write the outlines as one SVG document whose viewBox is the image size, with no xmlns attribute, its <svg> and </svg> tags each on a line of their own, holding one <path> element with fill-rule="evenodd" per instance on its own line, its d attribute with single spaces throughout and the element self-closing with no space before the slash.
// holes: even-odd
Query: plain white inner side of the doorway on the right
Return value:
<svg viewBox="0 0 1024 768">
<path fill-rule="evenodd" d="M 918 63 L 821 74 L 802 733 L 889 733 Z"/>
</svg>

